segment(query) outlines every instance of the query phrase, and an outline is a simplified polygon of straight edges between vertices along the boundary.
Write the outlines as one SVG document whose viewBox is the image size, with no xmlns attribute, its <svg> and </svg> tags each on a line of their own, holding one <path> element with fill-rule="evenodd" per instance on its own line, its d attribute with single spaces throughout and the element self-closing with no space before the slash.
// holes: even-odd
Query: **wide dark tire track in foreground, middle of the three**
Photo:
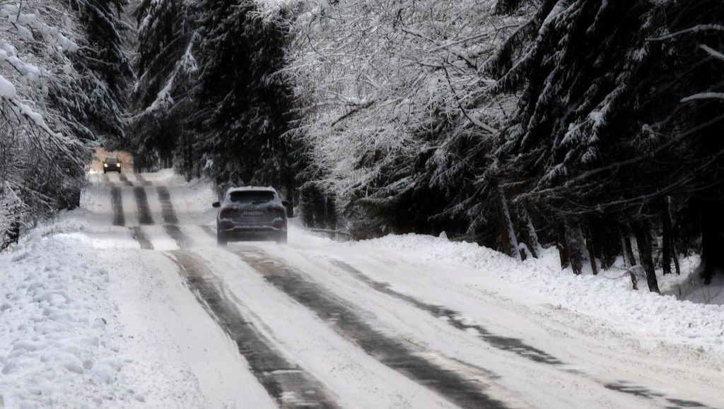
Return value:
<svg viewBox="0 0 724 409">
<path fill-rule="evenodd" d="M 361 313 L 330 295 L 319 284 L 307 281 L 287 264 L 271 260 L 258 251 L 237 250 L 235 254 L 263 274 L 266 281 L 314 311 L 320 319 L 332 324 L 337 333 L 355 342 L 384 365 L 462 407 L 505 408 L 503 402 L 482 392 L 481 384 L 473 383 L 419 355 L 424 351 L 414 350 L 406 343 L 377 331 L 366 323 Z"/>
</svg>

